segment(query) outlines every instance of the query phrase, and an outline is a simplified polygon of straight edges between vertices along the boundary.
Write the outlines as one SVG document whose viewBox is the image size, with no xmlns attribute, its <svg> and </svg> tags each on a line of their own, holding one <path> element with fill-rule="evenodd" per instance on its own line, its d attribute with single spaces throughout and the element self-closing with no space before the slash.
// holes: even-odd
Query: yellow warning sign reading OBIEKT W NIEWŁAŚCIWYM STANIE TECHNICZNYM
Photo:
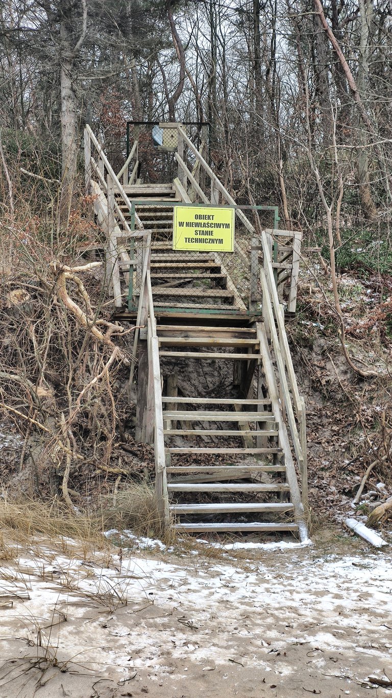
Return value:
<svg viewBox="0 0 392 698">
<path fill-rule="evenodd" d="M 234 251 L 234 209 L 175 206 L 173 250 Z"/>
</svg>

